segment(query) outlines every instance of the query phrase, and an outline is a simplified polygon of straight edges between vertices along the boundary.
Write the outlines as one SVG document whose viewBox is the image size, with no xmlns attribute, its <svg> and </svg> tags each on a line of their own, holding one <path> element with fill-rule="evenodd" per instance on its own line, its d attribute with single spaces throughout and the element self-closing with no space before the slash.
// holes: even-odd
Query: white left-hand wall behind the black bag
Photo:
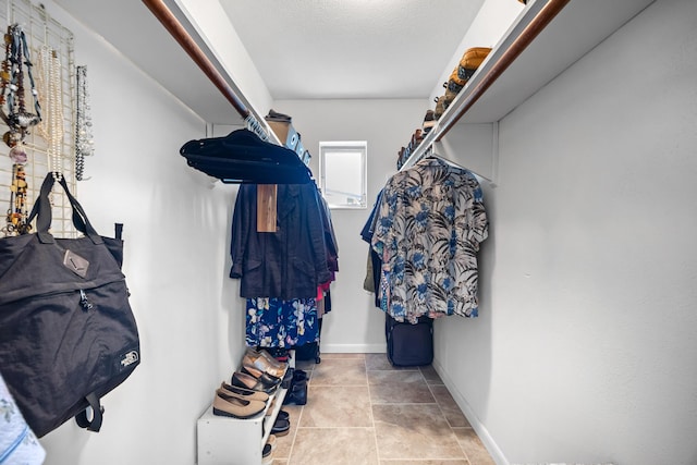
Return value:
<svg viewBox="0 0 697 465">
<path fill-rule="evenodd" d="M 196 420 L 244 346 L 236 281 L 228 278 L 235 188 L 179 155 L 205 123 L 53 3 L 88 69 L 96 155 L 78 198 L 103 235 L 124 223 L 124 273 L 142 365 L 105 396 L 99 433 L 69 421 L 41 439 L 47 465 L 196 461 Z M 124 29 L 125 34 L 125 29 Z"/>
</svg>

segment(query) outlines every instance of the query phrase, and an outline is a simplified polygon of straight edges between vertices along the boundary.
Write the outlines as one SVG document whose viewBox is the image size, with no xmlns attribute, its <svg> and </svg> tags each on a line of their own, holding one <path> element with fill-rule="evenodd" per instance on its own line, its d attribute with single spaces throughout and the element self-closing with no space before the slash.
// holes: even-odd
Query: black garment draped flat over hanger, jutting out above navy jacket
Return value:
<svg viewBox="0 0 697 465">
<path fill-rule="evenodd" d="M 189 140 L 180 154 L 189 167 L 224 183 L 306 184 L 311 172 L 293 150 L 261 140 L 249 130 Z"/>
</svg>

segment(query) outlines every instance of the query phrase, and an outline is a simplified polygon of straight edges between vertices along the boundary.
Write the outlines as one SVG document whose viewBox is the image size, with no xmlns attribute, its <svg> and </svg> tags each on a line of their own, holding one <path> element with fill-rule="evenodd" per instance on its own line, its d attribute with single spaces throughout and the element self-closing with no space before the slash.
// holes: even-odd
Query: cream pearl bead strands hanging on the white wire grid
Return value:
<svg viewBox="0 0 697 465">
<path fill-rule="evenodd" d="M 63 176 L 63 81 L 56 50 L 49 47 L 39 50 L 36 81 L 46 106 L 46 115 L 37 131 L 48 143 L 49 170 L 56 181 L 60 181 Z"/>
</svg>

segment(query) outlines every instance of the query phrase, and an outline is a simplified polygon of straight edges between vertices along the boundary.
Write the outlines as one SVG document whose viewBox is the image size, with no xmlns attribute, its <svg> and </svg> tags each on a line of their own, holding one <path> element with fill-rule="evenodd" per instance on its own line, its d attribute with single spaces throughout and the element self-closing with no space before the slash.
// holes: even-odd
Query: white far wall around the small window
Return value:
<svg viewBox="0 0 697 465">
<path fill-rule="evenodd" d="M 325 318 L 322 352 L 384 352 L 384 314 L 363 290 L 368 244 L 360 230 L 388 178 L 396 172 L 400 147 L 421 126 L 426 100 L 277 100 L 273 109 L 293 117 L 303 145 L 313 155 L 319 182 L 319 143 L 368 142 L 368 208 L 331 210 L 339 242 L 339 273 L 331 286 L 332 311 Z"/>
</svg>

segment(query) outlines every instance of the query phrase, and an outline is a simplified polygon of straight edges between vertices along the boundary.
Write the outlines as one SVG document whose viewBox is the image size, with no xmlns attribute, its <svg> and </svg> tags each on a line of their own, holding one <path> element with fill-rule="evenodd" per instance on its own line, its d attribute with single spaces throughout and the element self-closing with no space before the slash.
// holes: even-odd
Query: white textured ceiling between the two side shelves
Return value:
<svg viewBox="0 0 697 465">
<path fill-rule="evenodd" d="M 484 0 L 220 0 L 273 99 L 428 98 Z"/>
</svg>

